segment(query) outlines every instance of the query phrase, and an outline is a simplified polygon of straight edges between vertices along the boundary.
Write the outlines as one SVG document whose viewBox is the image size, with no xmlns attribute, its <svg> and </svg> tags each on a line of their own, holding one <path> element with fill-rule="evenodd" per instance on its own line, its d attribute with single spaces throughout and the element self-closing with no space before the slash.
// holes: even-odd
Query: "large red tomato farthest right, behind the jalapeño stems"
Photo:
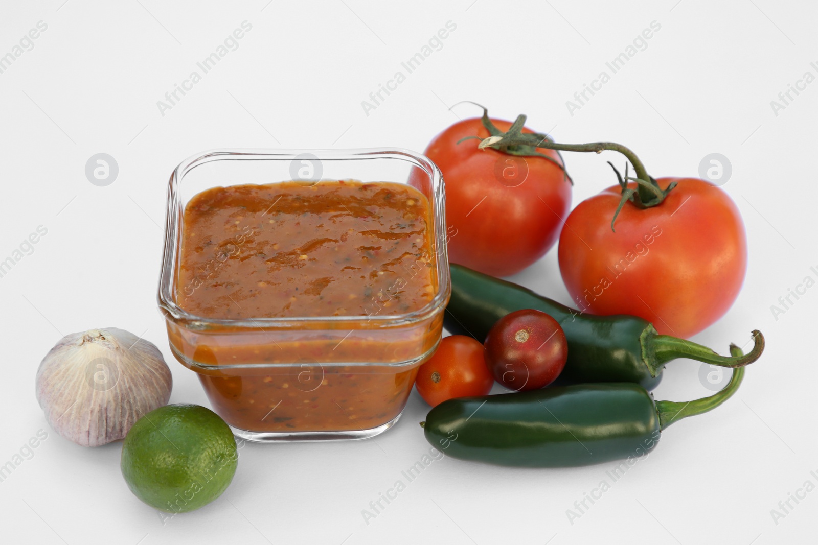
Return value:
<svg viewBox="0 0 818 545">
<path fill-rule="evenodd" d="M 611 230 L 621 189 L 579 203 L 560 235 L 560 272 L 578 308 L 596 315 L 629 314 L 658 333 L 690 337 L 735 302 L 747 270 L 739 209 L 716 185 L 678 182 L 663 203 L 626 203 Z"/>
</svg>

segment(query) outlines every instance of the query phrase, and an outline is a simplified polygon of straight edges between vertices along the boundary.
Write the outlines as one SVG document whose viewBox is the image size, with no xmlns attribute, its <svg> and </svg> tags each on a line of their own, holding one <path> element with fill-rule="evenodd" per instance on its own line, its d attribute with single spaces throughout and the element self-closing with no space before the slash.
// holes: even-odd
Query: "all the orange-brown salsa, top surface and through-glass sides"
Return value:
<svg viewBox="0 0 818 545">
<path fill-rule="evenodd" d="M 346 431 L 398 416 L 420 361 L 389 364 L 431 351 L 442 318 L 387 330 L 366 324 L 420 310 L 437 292 L 425 195 L 390 182 L 232 185 L 193 197 L 183 224 L 177 297 L 191 314 L 360 316 L 364 324 L 339 330 L 328 319 L 245 334 L 169 325 L 178 354 L 209 366 L 192 369 L 228 424 L 247 431 Z"/>
</svg>

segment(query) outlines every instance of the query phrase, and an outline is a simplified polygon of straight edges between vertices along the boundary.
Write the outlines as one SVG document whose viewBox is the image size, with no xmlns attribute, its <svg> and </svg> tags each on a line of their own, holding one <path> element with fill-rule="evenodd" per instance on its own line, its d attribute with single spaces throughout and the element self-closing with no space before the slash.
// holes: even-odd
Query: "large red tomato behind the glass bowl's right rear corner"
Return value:
<svg viewBox="0 0 818 545">
<path fill-rule="evenodd" d="M 492 122 L 504 132 L 511 126 Z M 466 119 L 435 136 L 425 151 L 446 185 L 449 260 L 488 275 L 514 275 L 556 242 L 571 182 L 548 159 L 478 150 L 477 140 L 458 144 L 465 136 L 489 134 L 479 118 Z M 537 151 L 562 164 L 557 152 Z"/>
</svg>

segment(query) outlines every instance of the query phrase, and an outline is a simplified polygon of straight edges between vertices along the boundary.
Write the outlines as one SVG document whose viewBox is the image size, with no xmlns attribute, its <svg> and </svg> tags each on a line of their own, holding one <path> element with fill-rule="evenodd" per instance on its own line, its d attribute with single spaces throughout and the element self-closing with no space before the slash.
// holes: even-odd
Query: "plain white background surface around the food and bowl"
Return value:
<svg viewBox="0 0 818 545">
<path fill-rule="evenodd" d="M 228 5 L 229 4 L 229 5 Z M 3 543 L 811 543 L 818 492 L 776 525 L 771 509 L 818 470 L 818 288 L 782 315 L 771 305 L 818 279 L 816 103 L 811 83 L 776 116 L 770 102 L 818 61 L 813 2 L 158 2 L 49 0 L 0 8 L 0 55 L 47 25 L 0 74 L 0 260 L 38 226 L 31 255 L 0 278 L 0 464 L 38 430 L 47 440 L 0 482 Z M 233 29 L 253 25 L 173 109 L 156 102 Z M 447 21 L 456 30 L 366 115 L 361 102 Z M 640 51 L 587 105 L 565 102 L 658 21 Z M 412 393 L 401 422 L 345 444 L 250 444 L 227 492 L 163 525 L 128 491 L 121 444 L 85 449 L 50 430 L 34 399 L 43 355 L 66 333 L 126 328 L 173 370 L 171 402 L 207 405 L 173 360 L 155 291 L 165 188 L 182 160 L 216 147 L 422 151 L 458 117 L 529 116 L 557 141 L 609 140 L 654 176 L 697 176 L 712 152 L 733 167 L 724 189 L 747 228 L 749 270 L 729 313 L 694 340 L 726 353 L 766 335 L 762 360 L 717 411 L 680 422 L 581 518 L 566 510 L 615 464 L 565 470 L 443 458 L 367 525 L 362 509 L 428 452 Z M 89 183 L 92 154 L 119 163 Z M 609 155 L 609 156 L 607 156 Z M 603 157 L 571 154 L 573 203 L 613 183 Z M 702 240 L 706 244 L 707 240 Z M 555 248 L 514 280 L 569 302 Z M 672 288 L 668 287 L 668 288 Z M 657 399 L 709 391 L 676 361 Z"/>
</svg>

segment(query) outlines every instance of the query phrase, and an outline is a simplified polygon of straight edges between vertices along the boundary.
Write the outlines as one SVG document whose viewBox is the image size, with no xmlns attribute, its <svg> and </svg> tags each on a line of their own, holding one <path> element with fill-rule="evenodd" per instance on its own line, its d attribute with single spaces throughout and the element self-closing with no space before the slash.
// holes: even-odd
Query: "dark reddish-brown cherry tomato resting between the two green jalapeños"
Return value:
<svg viewBox="0 0 818 545">
<path fill-rule="evenodd" d="M 536 390 L 554 382 L 568 360 L 560 324 L 540 310 L 517 310 L 497 320 L 485 342 L 486 363 L 509 390 Z"/>
</svg>

